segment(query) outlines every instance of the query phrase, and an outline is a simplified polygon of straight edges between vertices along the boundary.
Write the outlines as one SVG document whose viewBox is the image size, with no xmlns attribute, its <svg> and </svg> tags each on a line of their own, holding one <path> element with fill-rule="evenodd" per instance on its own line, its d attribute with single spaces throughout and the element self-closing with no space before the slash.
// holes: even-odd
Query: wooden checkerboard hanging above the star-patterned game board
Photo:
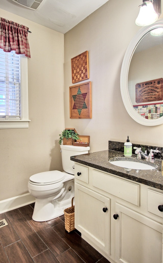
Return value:
<svg viewBox="0 0 163 263">
<path fill-rule="evenodd" d="M 72 83 L 89 79 L 88 51 L 71 58 Z"/>
</svg>

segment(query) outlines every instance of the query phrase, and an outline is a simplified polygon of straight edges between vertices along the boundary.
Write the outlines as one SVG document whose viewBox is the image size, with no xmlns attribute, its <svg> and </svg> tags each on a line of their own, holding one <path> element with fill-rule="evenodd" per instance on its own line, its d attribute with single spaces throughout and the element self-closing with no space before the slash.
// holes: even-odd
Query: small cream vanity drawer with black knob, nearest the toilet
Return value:
<svg viewBox="0 0 163 263">
<path fill-rule="evenodd" d="M 89 168 L 75 163 L 75 178 L 88 184 Z"/>
</svg>

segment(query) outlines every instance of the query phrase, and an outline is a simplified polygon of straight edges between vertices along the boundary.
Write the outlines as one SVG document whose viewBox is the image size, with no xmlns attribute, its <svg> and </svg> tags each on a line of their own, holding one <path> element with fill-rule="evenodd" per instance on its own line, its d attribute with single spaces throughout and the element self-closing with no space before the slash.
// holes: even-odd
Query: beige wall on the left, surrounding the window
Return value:
<svg viewBox="0 0 163 263">
<path fill-rule="evenodd" d="M 64 129 L 64 35 L 0 9 L 29 27 L 28 129 L 0 129 L 0 200 L 28 193 L 29 177 L 62 170 L 58 144 Z"/>
</svg>

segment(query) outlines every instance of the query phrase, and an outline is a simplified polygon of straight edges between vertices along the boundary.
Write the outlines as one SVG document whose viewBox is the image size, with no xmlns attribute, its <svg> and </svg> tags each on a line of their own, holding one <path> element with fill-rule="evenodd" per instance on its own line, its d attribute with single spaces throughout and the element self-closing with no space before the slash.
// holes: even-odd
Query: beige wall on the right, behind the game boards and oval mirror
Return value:
<svg viewBox="0 0 163 263">
<path fill-rule="evenodd" d="M 135 122 L 125 110 L 120 93 L 120 70 L 128 44 L 141 28 L 136 26 L 140 0 L 109 0 L 64 35 L 65 126 L 90 135 L 90 151 L 108 149 L 108 140 L 163 146 L 163 125 Z M 163 3 L 162 3 L 163 6 Z M 161 15 L 162 17 L 162 15 Z M 88 50 L 92 82 L 92 119 L 70 119 L 71 58 Z M 78 83 L 80 84 L 80 82 Z"/>
</svg>

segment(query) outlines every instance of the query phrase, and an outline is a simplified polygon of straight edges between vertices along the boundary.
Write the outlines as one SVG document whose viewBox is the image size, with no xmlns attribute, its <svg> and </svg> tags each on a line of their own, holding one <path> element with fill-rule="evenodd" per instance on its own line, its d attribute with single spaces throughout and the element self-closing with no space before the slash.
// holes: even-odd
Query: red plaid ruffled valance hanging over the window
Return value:
<svg viewBox="0 0 163 263">
<path fill-rule="evenodd" d="M 16 54 L 30 58 L 28 30 L 26 26 L 0 17 L 0 48 L 5 52 L 15 50 Z"/>
</svg>

